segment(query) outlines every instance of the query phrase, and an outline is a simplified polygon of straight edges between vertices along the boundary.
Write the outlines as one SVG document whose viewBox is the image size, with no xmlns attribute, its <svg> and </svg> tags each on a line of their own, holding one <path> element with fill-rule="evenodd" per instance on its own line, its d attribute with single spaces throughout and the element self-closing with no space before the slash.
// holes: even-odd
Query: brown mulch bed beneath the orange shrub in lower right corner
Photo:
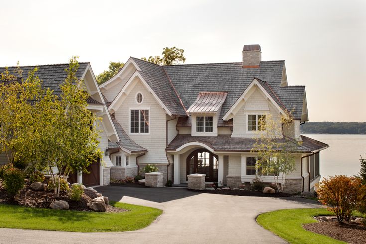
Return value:
<svg viewBox="0 0 366 244">
<path fill-rule="evenodd" d="M 305 230 L 326 235 L 347 243 L 366 243 L 365 226 L 355 222 L 344 221 L 342 224 L 339 224 L 338 222 L 316 222 L 306 224 L 303 227 Z"/>
</svg>

